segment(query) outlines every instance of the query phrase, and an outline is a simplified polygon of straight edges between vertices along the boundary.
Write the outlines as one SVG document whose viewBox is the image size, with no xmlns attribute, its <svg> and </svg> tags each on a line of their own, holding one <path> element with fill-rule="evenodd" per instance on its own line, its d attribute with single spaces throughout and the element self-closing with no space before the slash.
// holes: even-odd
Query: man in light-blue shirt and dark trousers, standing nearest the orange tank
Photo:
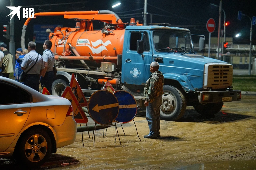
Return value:
<svg viewBox="0 0 256 170">
<path fill-rule="evenodd" d="M 53 66 L 54 66 L 54 54 L 51 51 L 51 46 L 53 44 L 50 40 L 46 40 L 43 44 L 43 63 L 45 66 L 45 69 L 43 70 L 42 77 L 40 78 L 41 86 L 43 88 L 43 85 L 45 88 L 52 94 L 51 86 L 54 81 L 54 72 L 53 72 Z"/>
</svg>

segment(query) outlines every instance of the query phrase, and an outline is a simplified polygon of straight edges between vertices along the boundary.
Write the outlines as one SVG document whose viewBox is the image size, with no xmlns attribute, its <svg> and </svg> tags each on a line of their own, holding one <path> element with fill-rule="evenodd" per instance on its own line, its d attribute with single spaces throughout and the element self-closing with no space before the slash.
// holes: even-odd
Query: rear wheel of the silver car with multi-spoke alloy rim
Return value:
<svg viewBox="0 0 256 170">
<path fill-rule="evenodd" d="M 51 139 L 42 129 L 27 131 L 18 147 L 19 160 L 27 167 L 39 167 L 51 153 Z"/>
</svg>

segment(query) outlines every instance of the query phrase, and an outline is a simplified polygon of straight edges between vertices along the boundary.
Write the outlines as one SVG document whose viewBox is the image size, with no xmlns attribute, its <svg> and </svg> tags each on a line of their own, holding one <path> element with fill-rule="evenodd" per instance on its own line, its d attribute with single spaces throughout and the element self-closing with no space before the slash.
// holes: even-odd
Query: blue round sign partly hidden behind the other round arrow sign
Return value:
<svg viewBox="0 0 256 170">
<path fill-rule="evenodd" d="M 137 113 L 137 103 L 133 95 L 123 90 L 113 92 L 119 103 L 119 113 L 115 121 L 128 123 L 132 121 Z"/>
</svg>

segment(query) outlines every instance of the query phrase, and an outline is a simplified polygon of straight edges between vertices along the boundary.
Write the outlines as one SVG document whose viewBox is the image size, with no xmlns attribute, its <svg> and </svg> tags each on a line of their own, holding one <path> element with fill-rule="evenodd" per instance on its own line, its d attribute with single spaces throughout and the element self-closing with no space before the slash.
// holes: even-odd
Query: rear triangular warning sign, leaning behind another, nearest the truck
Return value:
<svg viewBox="0 0 256 170">
<path fill-rule="evenodd" d="M 82 107 L 87 106 L 87 101 L 85 99 L 85 95 L 83 95 L 82 89 L 78 84 L 77 79 L 75 78 L 75 74 L 73 73 L 70 80 L 70 88 L 77 98 L 78 102 Z"/>
</svg>

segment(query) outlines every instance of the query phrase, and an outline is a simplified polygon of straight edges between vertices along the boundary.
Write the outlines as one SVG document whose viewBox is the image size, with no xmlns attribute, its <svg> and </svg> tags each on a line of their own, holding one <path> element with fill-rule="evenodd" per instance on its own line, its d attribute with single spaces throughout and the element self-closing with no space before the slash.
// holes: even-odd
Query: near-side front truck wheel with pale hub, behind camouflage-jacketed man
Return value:
<svg viewBox="0 0 256 170">
<path fill-rule="evenodd" d="M 183 93 L 177 88 L 164 85 L 160 118 L 175 121 L 181 118 L 186 111 L 187 102 Z"/>
</svg>

